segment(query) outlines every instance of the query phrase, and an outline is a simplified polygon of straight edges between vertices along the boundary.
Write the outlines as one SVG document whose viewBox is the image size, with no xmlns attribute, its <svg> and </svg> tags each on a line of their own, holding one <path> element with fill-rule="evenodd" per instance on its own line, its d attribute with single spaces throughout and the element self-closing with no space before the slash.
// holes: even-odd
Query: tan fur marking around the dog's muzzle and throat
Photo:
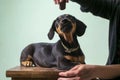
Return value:
<svg viewBox="0 0 120 80">
<path fill-rule="evenodd" d="M 62 32 L 60 28 L 61 28 L 60 25 L 58 25 L 58 28 L 56 28 L 56 31 L 58 32 L 58 34 L 62 35 L 64 37 L 64 39 L 66 41 L 68 41 L 69 43 L 72 43 L 73 42 L 73 33 L 75 33 L 75 31 L 76 31 L 76 23 L 72 23 L 72 30 L 69 33 Z"/>
</svg>

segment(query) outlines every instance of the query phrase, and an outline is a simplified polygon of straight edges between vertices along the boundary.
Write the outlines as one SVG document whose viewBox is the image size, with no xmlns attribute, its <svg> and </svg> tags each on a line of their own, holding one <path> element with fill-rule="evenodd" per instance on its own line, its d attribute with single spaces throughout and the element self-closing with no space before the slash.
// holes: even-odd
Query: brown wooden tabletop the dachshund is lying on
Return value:
<svg viewBox="0 0 120 80">
<path fill-rule="evenodd" d="M 61 70 L 42 67 L 17 66 L 6 71 L 6 77 L 12 80 L 57 80 Z"/>
</svg>

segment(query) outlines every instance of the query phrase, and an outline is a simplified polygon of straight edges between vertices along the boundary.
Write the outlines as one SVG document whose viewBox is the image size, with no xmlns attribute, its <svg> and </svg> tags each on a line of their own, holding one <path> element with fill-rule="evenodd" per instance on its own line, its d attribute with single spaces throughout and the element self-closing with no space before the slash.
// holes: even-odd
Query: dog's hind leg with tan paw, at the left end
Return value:
<svg viewBox="0 0 120 80">
<path fill-rule="evenodd" d="M 32 45 L 27 46 L 22 51 L 21 58 L 20 58 L 21 66 L 26 66 L 26 67 L 34 66 L 34 62 L 32 58 L 33 53 L 34 53 L 34 47 Z"/>
</svg>

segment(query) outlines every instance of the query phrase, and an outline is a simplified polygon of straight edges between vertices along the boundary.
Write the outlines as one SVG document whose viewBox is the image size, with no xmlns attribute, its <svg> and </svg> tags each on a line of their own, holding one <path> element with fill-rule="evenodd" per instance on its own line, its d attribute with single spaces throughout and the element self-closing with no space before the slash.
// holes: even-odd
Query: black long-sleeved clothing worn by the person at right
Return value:
<svg viewBox="0 0 120 80">
<path fill-rule="evenodd" d="M 93 15 L 106 18 L 110 21 L 109 56 L 107 65 L 120 64 L 120 0 L 71 0 L 71 1 L 80 4 L 81 11 L 91 12 Z"/>
</svg>

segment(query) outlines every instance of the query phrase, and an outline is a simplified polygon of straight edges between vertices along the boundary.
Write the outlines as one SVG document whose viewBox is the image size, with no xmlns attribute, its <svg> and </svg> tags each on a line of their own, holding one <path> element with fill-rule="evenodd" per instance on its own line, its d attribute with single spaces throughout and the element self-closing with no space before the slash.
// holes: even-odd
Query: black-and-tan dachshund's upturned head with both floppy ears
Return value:
<svg viewBox="0 0 120 80">
<path fill-rule="evenodd" d="M 57 17 L 50 31 L 48 38 L 51 40 L 54 37 L 55 31 L 62 36 L 67 42 L 73 42 L 73 35 L 82 36 L 85 32 L 86 25 L 72 15 L 64 14 Z"/>
</svg>

